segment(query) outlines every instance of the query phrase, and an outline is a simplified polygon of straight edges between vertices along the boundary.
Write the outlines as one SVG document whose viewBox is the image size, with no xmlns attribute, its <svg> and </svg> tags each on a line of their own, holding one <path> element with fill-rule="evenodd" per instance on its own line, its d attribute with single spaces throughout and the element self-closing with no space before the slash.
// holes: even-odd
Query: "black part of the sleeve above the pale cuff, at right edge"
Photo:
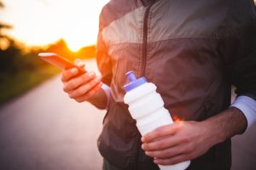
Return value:
<svg viewBox="0 0 256 170">
<path fill-rule="evenodd" d="M 249 11 L 240 28 L 229 30 L 225 40 L 226 69 L 238 96 L 256 100 L 256 15 Z"/>
</svg>

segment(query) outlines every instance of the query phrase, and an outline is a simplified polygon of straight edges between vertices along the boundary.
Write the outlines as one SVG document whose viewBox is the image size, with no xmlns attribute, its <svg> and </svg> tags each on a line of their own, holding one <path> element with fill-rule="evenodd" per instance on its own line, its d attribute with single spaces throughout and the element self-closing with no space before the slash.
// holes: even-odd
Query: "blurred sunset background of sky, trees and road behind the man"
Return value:
<svg viewBox="0 0 256 170">
<path fill-rule="evenodd" d="M 106 3 L 0 0 L 0 170 L 101 169 L 96 139 L 105 111 L 69 99 L 60 70 L 37 55 L 84 59 L 99 74 L 95 44 Z M 256 126 L 232 140 L 232 170 L 256 169 Z"/>
</svg>

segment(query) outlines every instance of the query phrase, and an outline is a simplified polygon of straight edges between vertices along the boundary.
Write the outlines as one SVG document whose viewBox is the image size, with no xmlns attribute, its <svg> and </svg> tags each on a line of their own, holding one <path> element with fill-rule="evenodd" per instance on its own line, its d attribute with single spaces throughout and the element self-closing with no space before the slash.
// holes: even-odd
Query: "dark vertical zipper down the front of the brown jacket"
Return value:
<svg viewBox="0 0 256 170">
<path fill-rule="evenodd" d="M 149 10 L 154 4 L 154 1 L 146 8 L 145 14 L 143 16 L 143 65 L 142 65 L 142 72 L 141 76 L 144 77 L 146 73 L 146 64 L 147 64 L 147 48 L 148 48 L 148 14 Z"/>
</svg>

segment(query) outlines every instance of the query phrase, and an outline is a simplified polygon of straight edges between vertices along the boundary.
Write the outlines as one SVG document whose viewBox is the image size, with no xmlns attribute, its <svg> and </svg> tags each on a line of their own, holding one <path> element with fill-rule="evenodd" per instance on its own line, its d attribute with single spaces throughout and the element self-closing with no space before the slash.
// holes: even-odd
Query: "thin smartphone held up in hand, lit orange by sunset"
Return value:
<svg viewBox="0 0 256 170">
<path fill-rule="evenodd" d="M 56 67 L 60 68 L 61 70 L 70 69 L 70 68 L 77 68 L 79 70 L 79 74 L 84 74 L 86 71 L 80 68 L 77 65 L 74 65 L 70 60 L 61 57 L 55 53 L 39 53 L 38 56 L 40 59 L 44 59 L 51 65 L 55 65 Z"/>
</svg>

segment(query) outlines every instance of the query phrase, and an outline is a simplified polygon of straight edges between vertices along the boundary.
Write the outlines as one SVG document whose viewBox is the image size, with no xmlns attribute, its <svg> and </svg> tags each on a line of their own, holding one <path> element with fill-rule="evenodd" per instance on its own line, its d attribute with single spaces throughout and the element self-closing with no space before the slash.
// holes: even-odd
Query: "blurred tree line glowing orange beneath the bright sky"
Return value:
<svg viewBox="0 0 256 170">
<path fill-rule="evenodd" d="M 0 9 L 4 8 L 3 2 L 0 0 Z M 12 29 L 6 23 L 0 20 L 0 76 L 1 74 L 16 74 L 19 71 L 36 71 L 42 66 L 48 65 L 41 59 L 38 59 L 40 52 L 54 52 L 66 56 L 68 59 L 74 58 L 91 58 L 95 56 L 96 47 L 84 47 L 77 53 L 73 53 L 67 47 L 64 40 L 59 40 L 44 48 L 26 47 L 26 45 L 16 42 L 15 39 L 3 34 L 6 29 Z"/>
</svg>

